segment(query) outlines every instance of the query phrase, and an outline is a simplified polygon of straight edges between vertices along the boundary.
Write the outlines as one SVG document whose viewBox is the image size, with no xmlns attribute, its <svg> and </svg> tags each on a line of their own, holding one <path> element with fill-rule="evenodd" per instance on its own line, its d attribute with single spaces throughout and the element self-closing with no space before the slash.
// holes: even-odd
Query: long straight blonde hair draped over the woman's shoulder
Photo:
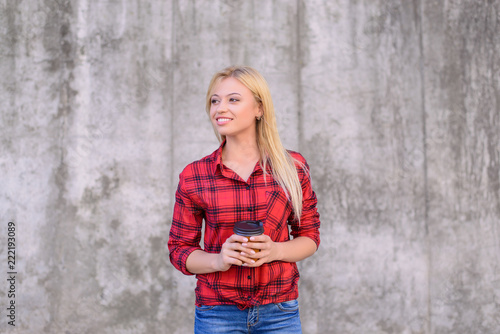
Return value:
<svg viewBox="0 0 500 334">
<path fill-rule="evenodd" d="M 260 121 L 257 121 L 256 125 L 260 163 L 265 173 L 267 162 L 269 161 L 273 178 L 287 194 L 292 203 L 295 218 L 300 222 L 302 213 L 302 185 L 300 184 L 295 164 L 299 164 L 302 168 L 304 166 L 300 161 L 294 159 L 281 143 L 271 92 L 269 91 L 266 79 L 257 70 L 249 66 L 231 66 L 215 73 L 208 86 L 206 97 L 207 113 L 210 116 L 211 98 L 215 86 L 222 80 L 230 77 L 237 79 L 245 85 L 253 93 L 257 103 L 262 106 L 262 118 Z M 214 131 L 219 142 L 222 143 L 226 137 L 220 135 L 215 128 Z"/>
</svg>

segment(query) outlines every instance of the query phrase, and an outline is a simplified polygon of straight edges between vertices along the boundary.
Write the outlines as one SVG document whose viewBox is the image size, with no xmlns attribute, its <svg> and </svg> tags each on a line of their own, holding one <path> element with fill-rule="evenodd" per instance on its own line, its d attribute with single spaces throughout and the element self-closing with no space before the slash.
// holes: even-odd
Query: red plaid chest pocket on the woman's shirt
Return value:
<svg viewBox="0 0 500 334">
<path fill-rule="evenodd" d="M 289 240 L 288 218 L 292 210 L 291 204 L 282 189 L 266 191 L 265 234 L 273 241 Z"/>
</svg>

